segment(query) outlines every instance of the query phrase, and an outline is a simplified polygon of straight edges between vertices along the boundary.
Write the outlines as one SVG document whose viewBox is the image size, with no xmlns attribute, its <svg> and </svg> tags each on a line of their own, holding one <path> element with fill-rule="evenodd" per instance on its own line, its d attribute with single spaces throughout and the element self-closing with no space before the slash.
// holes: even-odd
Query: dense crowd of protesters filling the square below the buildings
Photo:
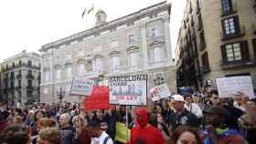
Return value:
<svg viewBox="0 0 256 144">
<path fill-rule="evenodd" d="M 131 129 L 128 144 L 253 144 L 256 104 L 239 92 L 173 95 L 147 107 L 86 111 L 79 103 L 8 108 L 0 103 L 0 144 L 122 144 L 116 123 Z M 151 107 L 149 107 L 151 106 Z M 127 111 L 126 111 L 127 110 Z"/>
</svg>

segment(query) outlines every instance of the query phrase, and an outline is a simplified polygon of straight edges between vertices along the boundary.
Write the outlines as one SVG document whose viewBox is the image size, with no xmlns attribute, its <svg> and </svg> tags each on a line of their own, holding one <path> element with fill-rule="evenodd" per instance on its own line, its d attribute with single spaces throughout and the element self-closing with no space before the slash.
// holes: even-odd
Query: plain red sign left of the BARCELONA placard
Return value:
<svg viewBox="0 0 256 144">
<path fill-rule="evenodd" d="M 85 110 L 109 109 L 110 96 L 108 87 L 93 87 L 90 98 L 83 100 Z"/>
</svg>

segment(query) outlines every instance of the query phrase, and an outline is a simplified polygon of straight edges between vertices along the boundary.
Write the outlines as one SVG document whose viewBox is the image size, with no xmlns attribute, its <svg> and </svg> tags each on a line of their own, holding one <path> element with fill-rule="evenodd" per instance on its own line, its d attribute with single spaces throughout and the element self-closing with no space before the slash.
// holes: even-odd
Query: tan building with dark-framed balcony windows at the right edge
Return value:
<svg viewBox="0 0 256 144">
<path fill-rule="evenodd" d="M 255 25 L 255 0 L 187 0 L 176 45 L 177 87 L 251 76 L 255 88 Z"/>
</svg>

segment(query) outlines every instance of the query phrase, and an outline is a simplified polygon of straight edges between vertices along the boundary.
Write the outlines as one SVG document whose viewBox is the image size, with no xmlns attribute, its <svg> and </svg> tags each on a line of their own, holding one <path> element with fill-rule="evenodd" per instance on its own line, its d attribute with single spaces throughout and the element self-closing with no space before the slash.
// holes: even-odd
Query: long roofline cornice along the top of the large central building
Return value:
<svg viewBox="0 0 256 144">
<path fill-rule="evenodd" d="M 65 45 L 68 44 L 71 41 L 75 41 L 78 40 L 80 41 L 81 39 L 88 37 L 88 36 L 93 36 L 97 33 L 101 33 L 103 31 L 112 29 L 113 27 L 117 27 L 117 26 L 123 26 L 128 24 L 129 22 L 134 22 L 136 20 L 139 20 L 141 18 L 144 18 L 147 15 L 152 15 L 152 14 L 156 14 L 156 13 L 160 13 L 163 11 L 168 10 L 168 15 L 170 15 L 170 11 L 171 11 L 171 4 L 167 4 L 166 1 L 165 2 L 161 2 L 158 3 L 156 5 L 151 5 L 148 6 L 144 9 L 141 9 L 133 14 L 130 15 L 125 15 L 123 17 L 114 19 L 110 22 L 104 23 L 100 26 L 94 26 L 88 30 L 82 31 L 80 33 L 74 34 L 72 36 L 67 36 L 64 37 L 62 39 L 59 39 L 55 42 L 51 42 L 48 43 L 47 45 L 42 46 L 39 51 L 47 51 L 48 49 L 60 46 L 60 45 Z"/>
</svg>

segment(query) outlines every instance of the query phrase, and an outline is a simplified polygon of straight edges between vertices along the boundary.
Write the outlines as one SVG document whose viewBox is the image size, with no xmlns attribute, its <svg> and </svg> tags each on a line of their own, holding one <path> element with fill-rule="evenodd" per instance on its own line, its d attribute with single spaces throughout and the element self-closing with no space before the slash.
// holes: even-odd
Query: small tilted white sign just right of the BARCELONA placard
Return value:
<svg viewBox="0 0 256 144">
<path fill-rule="evenodd" d="M 167 84 L 162 84 L 157 87 L 153 87 L 150 90 L 150 97 L 152 101 L 160 100 L 162 98 L 167 98 L 169 96 L 171 96 L 171 93 Z"/>
</svg>

